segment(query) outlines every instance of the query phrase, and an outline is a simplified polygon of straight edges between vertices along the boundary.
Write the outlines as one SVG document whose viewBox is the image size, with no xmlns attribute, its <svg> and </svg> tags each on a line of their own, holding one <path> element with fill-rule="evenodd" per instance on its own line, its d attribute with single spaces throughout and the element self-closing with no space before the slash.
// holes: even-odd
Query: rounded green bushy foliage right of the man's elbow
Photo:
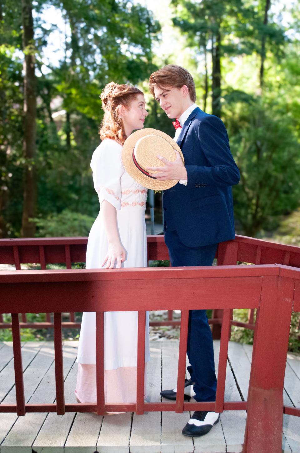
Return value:
<svg viewBox="0 0 300 453">
<path fill-rule="evenodd" d="M 281 215 L 299 206 L 299 138 L 274 102 L 240 103 L 236 116 L 230 113 L 230 146 L 241 173 L 234 208 L 240 230 L 254 237 L 262 229 L 272 231 Z"/>
</svg>

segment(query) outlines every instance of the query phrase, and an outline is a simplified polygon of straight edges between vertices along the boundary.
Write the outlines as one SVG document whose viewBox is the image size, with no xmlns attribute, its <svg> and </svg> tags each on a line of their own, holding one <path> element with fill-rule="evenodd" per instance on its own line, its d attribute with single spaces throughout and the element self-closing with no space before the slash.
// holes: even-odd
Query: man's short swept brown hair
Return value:
<svg viewBox="0 0 300 453">
<path fill-rule="evenodd" d="M 191 101 L 196 101 L 195 82 L 191 74 L 184 67 L 176 66 L 175 64 L 167 64 L 158 71 L 152 72 L 149 77 L 149 89 L 153 97 L 154 87 L 165 88 L 181 88 L 183 85 L 188 87 L 188 93 Z"/>
</svg>

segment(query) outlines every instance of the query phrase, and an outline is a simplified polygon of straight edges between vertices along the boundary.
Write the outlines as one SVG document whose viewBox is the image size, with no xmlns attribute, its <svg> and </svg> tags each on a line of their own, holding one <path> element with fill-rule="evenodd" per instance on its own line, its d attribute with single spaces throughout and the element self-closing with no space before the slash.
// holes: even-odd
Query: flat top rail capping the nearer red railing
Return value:
<svg viewBox="0 0 300 453">
<path fill-rule="evenodd" d="M 295 275 L 300 269 L 285 266 Z M 220 277 L 255 277 L 279 275 L 281 265 L 231 265 L 202 267 L 145 267 L 127 269 L 60 269 L 60 270 L 8 270 L 0 272 L 0 283 L 28 283 L 88 280 L 160 280 L 199 279 Z M 294 275 L 294 274 L 293 274 Z M 290 275 L 289 275 L 290 276 Z M 297 278 L 297 276 L 293 276 Z"/>
</svg>

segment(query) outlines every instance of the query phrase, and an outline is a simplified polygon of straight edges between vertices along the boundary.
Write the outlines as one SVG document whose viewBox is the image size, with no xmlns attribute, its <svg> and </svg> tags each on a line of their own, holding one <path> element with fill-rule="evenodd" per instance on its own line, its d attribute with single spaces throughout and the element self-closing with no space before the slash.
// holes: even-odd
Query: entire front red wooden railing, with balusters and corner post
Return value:
<svg viewBox="0 0 300 453">
<path fill-rule="evenodd" d="M 230 248 L 229 248 L 230 250 Z M 283 384 L 292 308 L 300 311 L 300 270 L 284 265 L 208 266 L 121 270 L 38 270 L 0 273 L 1 306 L 12 313 L 16 404 L 0 412 L 90 412 L 247 410 L 244 453 L 279 453 Z M 147 294 L 147 297 L 145 297 Z M 21 295 L 21 297 L 20 297 Z M 42 295 L 42 297 L 41 297 Z M 120 297 L 121 296 L 121 297 Z M 105 404 L 103 312 L 138 311 L 136 404 Z M 188 310 L 224 310 L 216 401 L 184 402 Z M 248 400 L 224 401 L 225 372 L 233 308 L 257 309 Z M 145 311 L 180 309 L 181 334 L 175 403 L 144 402 Z M 61 313 L 95 311 L 97 402 L 65 404 Z M 54 313 L 56 403 L 26 404 L 19 313 Z M 274 326 L 276 328 L 274 329 Z M 300 408 L 284 407 L 300 416 Z"/>
</svg>

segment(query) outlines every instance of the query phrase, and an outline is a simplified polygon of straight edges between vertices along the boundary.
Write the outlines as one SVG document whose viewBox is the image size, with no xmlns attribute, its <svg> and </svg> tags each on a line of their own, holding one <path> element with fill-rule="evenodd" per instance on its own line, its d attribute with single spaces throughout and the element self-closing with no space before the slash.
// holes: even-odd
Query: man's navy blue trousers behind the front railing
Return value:
<svg viewBox="0 0 300 453">
<path fill-rule="evenodd" d="M 171 266 L 211 266 L 218 244 L 186 247 L 176 231 L 165 231 L 164 240 L 169 250 Z M 188 318 L 188 372 L 195 382 L 196 401 L 216 400 L 214 349 L 206 310 L 190 310 Z"/>
</svg>

